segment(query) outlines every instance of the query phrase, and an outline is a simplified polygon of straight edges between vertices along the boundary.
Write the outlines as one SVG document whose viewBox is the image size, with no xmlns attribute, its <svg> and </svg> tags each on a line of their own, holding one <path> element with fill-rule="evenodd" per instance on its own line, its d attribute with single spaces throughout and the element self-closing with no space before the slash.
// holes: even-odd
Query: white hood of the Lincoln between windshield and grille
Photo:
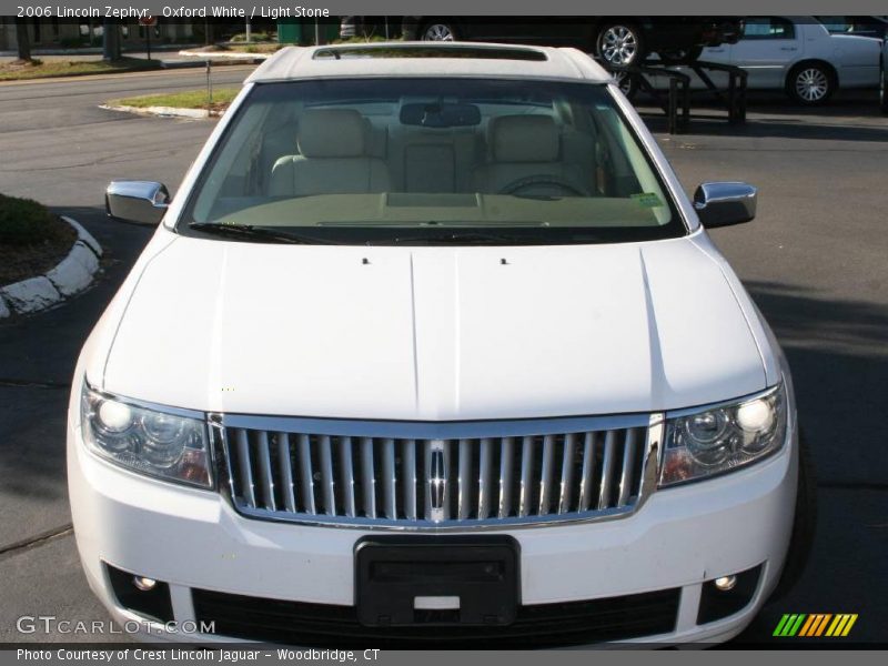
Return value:
<svg viewBox="0 0 888 666">
<path fill-rule="evenodd" d="M 144 262 L 102 386 L 229 413 L 613 414 L 765 387 L 722 269 L 690 239 L 360 248 L 178 238 Z"/>
</svg>

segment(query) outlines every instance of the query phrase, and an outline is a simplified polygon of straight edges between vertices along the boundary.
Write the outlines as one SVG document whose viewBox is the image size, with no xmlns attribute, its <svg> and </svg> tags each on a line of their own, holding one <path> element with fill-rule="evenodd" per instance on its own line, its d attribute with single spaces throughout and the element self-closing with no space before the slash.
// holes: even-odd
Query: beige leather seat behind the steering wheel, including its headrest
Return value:
<svg viewBox="0 0 888 666">
<path fill-rule="evenodd" d="M 476 192 L 486 194 L 512 193 L 507 190 L 526 184 L 527 193 L 557 195 L 587 194 L 582 170 L 562 160 L 561 137 L 549 115 L 500 115 L 492 118 L 487 128 L 491 161 L 477 167 L 472 174 Z M 531 184 L 537 180 L 553 179 L 569 184 L 577 193 L 556 185 Z M 515 190 L 518 191 L 518 190 Z"/>
</svg>

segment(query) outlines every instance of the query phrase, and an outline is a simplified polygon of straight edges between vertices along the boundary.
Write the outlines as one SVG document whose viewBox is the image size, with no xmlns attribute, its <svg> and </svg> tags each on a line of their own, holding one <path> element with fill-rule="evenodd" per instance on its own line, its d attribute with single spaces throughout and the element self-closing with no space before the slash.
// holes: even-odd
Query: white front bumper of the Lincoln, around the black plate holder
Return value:
<svg viewBox="0 0 888 666">
<path fill-rule="evenodd" d="M 797 435 L 749 468 L 659 491 L 634 515 L 598 523 L 503 531 L 521 546 L 524 606 L 676 589 L 672 630 L 634 640 L 718 642 L 741 632 L 783 567 L 793 525 Z M 214 492 L 142 477 L 90 454 L 69 425 L 68 473 L 78 549 L 89 583 L 119 623 L 145 639 L 183 637 L 122 607 L 108 569 L 169 583 L 174 619 L 194 620 L 193 589 L 259 599 L 352 606 L 353 549 L 366 529 L 246 519 Z M 487 532 L 490 534 L 491 532 Z M 761 567 L 741 610 L 698 624 L 703 583 Z M 133 622 L 134 620 L 134 622 Z"/>
</svg>

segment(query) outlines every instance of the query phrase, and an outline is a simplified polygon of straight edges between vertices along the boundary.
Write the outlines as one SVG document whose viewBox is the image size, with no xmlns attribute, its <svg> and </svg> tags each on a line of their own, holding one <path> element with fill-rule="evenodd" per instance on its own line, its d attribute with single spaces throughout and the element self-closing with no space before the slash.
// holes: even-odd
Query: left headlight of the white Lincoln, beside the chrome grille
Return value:
<svg viewBox="0 0 888 666">
<path fill-rule="evenodd" d="M 140 474 L 212 485 L 206 425 L 102 395 L 83 385 L 83 440 L 98 455 Z"/>
</svg>

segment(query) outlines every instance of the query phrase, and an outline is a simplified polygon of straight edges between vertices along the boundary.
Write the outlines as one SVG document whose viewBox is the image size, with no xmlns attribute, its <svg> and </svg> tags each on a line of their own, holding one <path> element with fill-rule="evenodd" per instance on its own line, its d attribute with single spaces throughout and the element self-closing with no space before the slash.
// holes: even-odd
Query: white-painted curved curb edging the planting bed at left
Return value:
<svg viewBox="0 0 888 666">
<path fill-rule="evenodd" d="M 0 319 L 6 319 L 13 312 L 40 312 L 83 291 L 92 283 L 93 275 L 99 271 L 102 246 L 79 222 L 60 216 L 74 229 L 78 240 L 68 256 L 44 275 L 0 287 Z"/>
</svg>

